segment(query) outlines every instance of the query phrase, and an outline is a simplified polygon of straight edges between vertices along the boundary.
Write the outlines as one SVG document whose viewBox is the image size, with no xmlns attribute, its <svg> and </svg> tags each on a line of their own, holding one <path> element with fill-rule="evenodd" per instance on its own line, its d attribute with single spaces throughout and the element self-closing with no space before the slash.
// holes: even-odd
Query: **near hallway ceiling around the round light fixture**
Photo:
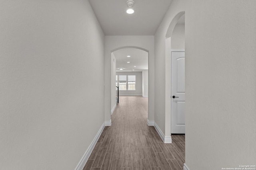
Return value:
<svg viewBox="0 0 256 170">
<path fill-rule="evenodd" d="M 89 0 L 105 35 L 154 35 L 172 0 L 134 0 L 134 14 L 127 14 L 127 0 Z"/>
</svg>

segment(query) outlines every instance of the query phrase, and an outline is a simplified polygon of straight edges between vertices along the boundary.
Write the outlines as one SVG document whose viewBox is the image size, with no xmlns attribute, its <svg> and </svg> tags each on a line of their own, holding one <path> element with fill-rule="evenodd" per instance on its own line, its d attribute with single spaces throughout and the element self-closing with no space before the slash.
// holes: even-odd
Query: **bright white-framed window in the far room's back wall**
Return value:
<svg viewBox="0 0 256 170">
<path fill-rule="evenodd" d="M 136 90 L 135 85 L 135 75 L 119 75 L 118 77 L 116 76 L 116 86 L 119 86 L 119 90 Z"/>
</svg>

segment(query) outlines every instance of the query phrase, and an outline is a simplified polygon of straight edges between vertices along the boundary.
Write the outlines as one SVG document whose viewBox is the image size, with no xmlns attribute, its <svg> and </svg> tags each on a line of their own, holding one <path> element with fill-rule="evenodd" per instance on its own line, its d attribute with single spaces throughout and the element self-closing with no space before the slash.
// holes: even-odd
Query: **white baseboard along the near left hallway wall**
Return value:
<svg viewBox="0 0 256 170">
<path fill-rule="evenodd" d="M 98 133 L 96 134 L 96 136 L 94 137 L 92 143 L 90 144 L 90 146 L 88 147 L 88 149 L 85 151 L 83 157 L 81 158 L 81 160 L 79 161 L 78 165 L 76 166 L 75 170 L 82 170 L 90 156 L 90 154 L 92 153 L 92 150 L 94 149 L 103 129 L 105 127 L 105 123 L 102 124 L 102 126 L 100 127 L 100 130 L 98 131 Z"/>
</svg>

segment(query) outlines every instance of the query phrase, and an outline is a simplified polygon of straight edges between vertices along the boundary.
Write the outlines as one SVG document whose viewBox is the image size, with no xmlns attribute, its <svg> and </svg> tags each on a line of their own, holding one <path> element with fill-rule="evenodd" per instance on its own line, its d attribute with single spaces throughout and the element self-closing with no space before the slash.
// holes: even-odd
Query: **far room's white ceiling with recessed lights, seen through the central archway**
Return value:
<svg viewBox="0 0 256 170">
<path fill-rule="evenodd" d="M 114 56 L 116 57 L 116 71 L 142 71 L 148 70 L 148 52 L 134 49 L 126 48 L 114 51 Z M 130 55 L 131 57 L 127 57 Z M 130 63 L 127 63 L 127 62 Z M 136 66 L 136 67 L 134 67 Z M 120 70 L 119 68 L 124 68 Z"/>
</svg>

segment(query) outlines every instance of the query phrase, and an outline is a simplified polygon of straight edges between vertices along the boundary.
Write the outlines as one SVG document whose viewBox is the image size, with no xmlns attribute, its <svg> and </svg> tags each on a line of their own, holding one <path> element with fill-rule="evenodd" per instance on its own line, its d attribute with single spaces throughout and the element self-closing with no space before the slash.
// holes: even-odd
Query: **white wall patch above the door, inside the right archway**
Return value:
<svg viewBox="0 0 256 170">
<path fill-rule="evenodd" d="M 185 24 L 176 24 L 171 36 L 171 49 L 185 49 Z"/>
</svg>

